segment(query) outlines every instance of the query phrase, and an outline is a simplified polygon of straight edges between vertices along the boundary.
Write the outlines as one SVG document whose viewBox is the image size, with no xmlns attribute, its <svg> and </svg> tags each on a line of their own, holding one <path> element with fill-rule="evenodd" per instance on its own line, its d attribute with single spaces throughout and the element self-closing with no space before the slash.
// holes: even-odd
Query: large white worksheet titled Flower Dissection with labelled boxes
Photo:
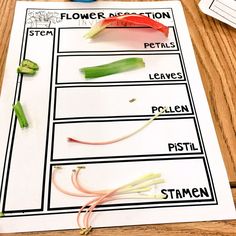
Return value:
<svg viewBox="0 0 236 236">
<path fill-rule="evenodd" d="M 99 20 L 130 13 L 165 24 L 168 38 L 144 25 L 110 26 L 92 40 L 83 37 Z M 142 58 L 145 67 L 91 80 L 79 70 L 131 57 Z M 16 73 L 25 58 L 38 63 L 36 75 Z M 20 128 L 12 111 L 17 101 L 28 128 Z M 179 1 L 17 2 L 0 107 L 0 232 L 78 228 L 78 210 L 95 197 L 69 196 L 52 183 L 56 173 L 61 188 L 76 192 L 71 173 L 78 166 L 84 167 L 78 181 L 93 191 L 154 173 L 165 181 L 99 204 L 92 227 L 235 218 Z M 128 135 L 163 107 L 120 142 L 67 140 Z"/>
</svg>

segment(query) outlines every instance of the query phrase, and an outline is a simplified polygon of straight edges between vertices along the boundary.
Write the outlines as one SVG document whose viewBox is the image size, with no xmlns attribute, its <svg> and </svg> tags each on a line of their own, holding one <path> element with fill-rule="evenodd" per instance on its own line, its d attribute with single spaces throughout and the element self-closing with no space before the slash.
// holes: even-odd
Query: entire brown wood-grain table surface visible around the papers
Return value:
<svg viewBox="0 0 236 236">
<path fill-rule="evenodd" d="M 0 88 L 15 2 L 15 0 L 0 2 Z M 181 2 L 236 203 L 236 30 L 201 13 L 198 8 L 199 0 L 181 0 Z M 79 231 L 5 235 L 75 236 L 79 235 Z M 236 221 L 102 228 L 94 229 L 90 235 L 236 235 Z"/>
</svg>

